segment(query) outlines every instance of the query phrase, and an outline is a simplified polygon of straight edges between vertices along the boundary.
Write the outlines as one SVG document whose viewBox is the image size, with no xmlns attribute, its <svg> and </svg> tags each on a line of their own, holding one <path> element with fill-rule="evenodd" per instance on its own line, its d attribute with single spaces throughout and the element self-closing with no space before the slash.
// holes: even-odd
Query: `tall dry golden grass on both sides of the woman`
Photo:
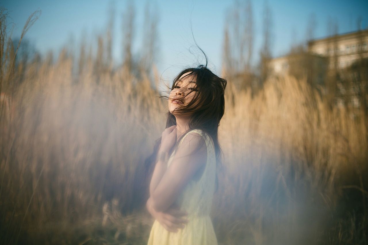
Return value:
<svg viewBox="0 0 368 245">
<path fill-rule="evenodd" d="M 22 63 L 0 20 L 1 244 L 145 244 L 145 159 L 167 111 L 154 76 L 113 68 L 102 39 Z M 367 244 L 367 111 L 291 75 L 257 93 L 228 82 L 219 244 Z"/>
</svg>

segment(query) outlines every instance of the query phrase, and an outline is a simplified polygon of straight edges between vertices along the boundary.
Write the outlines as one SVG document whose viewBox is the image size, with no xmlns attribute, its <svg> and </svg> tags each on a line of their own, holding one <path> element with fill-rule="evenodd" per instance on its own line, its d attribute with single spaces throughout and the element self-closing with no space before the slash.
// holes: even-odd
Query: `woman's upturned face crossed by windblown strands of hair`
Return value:
<svg viewBox="0 0 368 245">
<path fill-rule="evenodd" d="M 192 76 L 187 76 L 191 72 L 184 73 L 176 82 L 174 89 L 169 95 L 169 111 L 176 114 L 174 110 L 179 106 L 185 106 L 194 98 L 198 90 L 195 89 L 195 81 Z M 173 113 L 174 112 L 174 113 Z"/>
</svg>

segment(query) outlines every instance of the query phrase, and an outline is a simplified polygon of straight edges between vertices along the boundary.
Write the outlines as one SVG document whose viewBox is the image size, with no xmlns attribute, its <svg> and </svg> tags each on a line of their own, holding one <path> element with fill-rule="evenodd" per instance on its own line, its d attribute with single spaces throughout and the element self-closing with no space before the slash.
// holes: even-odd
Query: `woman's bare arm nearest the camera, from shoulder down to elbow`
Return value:
<svg viewBox="0 0 368 245">
<path fill-rule="evenodd" d="M 159 212 L 169 208 L 206 160 L 207 147 L 202 136 L 195 132 L 188 134 L 167 169 L 164 163 L 156 164 L 156 177 L 162 174 L 162 178 L 156 187 L 150 186 L 153 208 Z"/>
</svg>

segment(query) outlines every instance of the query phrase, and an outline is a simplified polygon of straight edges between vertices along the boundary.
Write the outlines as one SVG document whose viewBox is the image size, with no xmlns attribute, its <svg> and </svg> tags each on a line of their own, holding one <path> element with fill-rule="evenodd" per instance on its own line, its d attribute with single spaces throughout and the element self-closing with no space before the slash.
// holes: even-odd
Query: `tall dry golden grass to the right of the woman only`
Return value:
<svg viewBox="0 0 368 245">
<path fill-rule="evenodd" d="M 250 244 L 364 244 L 364 122 L 344 109 L 329 110 L 305 80 L 270 79 L 254 97 L 230 86 L 220 131 L 226 172 L 215 205 L 224 244 L 239 244 L 239 238 Z M 341 235 L 332 228 L 340 212 L 357 210 L 360 227 L 335 237 Z"/>
</svg>

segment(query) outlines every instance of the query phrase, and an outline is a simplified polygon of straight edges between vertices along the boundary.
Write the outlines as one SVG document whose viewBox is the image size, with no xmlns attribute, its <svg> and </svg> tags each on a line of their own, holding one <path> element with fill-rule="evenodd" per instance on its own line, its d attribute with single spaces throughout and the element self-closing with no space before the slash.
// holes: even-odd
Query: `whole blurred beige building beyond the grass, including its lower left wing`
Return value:
<svg viewBox="0 0 368 245">
<path fill-rule="evenodd" d="M 270 75 L 291 74 L 319 86 L 337 106 L 368 108 L 368 30 L 310 40 L 307 52 L 290 52 L 269 63 Z"/>
</svg>

